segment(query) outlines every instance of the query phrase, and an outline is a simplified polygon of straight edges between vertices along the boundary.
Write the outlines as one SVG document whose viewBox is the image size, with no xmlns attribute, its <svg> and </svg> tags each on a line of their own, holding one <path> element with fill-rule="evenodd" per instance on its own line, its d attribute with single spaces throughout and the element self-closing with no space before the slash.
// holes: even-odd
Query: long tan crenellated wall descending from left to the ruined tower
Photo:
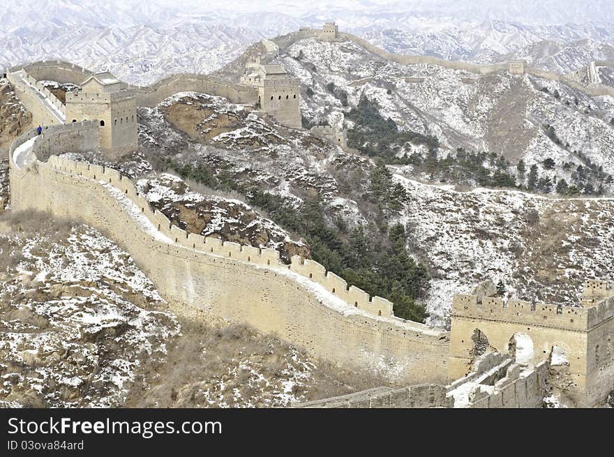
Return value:
<svg viewBox="0 0 614 457">
<path fill-rule="evenodd" d="M 114 170 L 51 157 L 32 170 L 12 165 L 10 184 L 13 209 L 51 211 L 101 230 L 168 300 L 276 334 L 315 357 L 372 370 L 391 382 L 447 381 L 447 332 L 387 317 L 389 301 L 347 288 L 316 262 L 294 257 L 287 266 L 276 250 L 187 234 L 152 212 L 133 183 Z"/>
</svg>

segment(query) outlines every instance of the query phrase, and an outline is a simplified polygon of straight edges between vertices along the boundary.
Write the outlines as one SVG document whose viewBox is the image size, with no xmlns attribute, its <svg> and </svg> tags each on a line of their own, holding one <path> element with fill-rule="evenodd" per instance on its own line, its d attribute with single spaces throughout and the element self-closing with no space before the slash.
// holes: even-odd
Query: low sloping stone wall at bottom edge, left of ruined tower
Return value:
<svg viewBox="0 0 614 457">
<path fill-rule="evenodd" d="M 376 387 L 338 397 L 324 398 L 294 407 L 307 408 L 396 408 L 452 407 L 454 400 L 446 396 L 446 388 L 438 384 L 419 384 L 403 389 Z"/>
</svg>

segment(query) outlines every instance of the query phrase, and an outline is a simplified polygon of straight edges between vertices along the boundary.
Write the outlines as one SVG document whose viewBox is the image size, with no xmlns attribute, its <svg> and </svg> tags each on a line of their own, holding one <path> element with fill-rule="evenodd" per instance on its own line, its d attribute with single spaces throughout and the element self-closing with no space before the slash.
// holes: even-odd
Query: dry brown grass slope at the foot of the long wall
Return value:
<svg viewBox="0 0 614 457">
<path fill-rule="evenodd" d="M 250 373 L 237 368 L 228 376 L 228 370 L 241 362 L 256 364 L 271 383 L 283 379 L 292 349 L 274 336 L 237 324 L 220 322 L 204 324 L 188 316 L 180 316 L 179 336 L 169 347 L 165 366 L 145 366 L 128 395 L 127 407 L 205 407 L 205 392 L 223 396 L 234 403 L 234 392 L 262 407 L 273 394 L 249 384 Z M 300 351 L 299 351 L 300 352 Z M 299 358 L 308 360 L 303 352 Z M 305 401 L 349 394 L 386 384 L 380 377 L 368 373 L 341 370 L 322 361 L 314 361 L 310 380 L 296 385 L 293 394 Z M 218 380 L 224 379 L 220 391 Z"/>
</svg>

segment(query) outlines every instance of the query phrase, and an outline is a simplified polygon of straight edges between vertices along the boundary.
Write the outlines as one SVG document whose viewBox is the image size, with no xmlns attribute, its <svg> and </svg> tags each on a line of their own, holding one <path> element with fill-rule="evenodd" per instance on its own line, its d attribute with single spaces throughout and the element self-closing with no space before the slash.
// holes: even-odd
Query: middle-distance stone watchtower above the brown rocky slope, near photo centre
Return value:
<svg viewBox="0 0 614 457">
<path fill-rule="evenodd" d="M 260 110 L 271 114 L 284 126 L 301 128 L 299 79 L 290 77 L 279 65 L 260 65 L 247 73 L 242 82 L 257 88 Z"/>
</svg>

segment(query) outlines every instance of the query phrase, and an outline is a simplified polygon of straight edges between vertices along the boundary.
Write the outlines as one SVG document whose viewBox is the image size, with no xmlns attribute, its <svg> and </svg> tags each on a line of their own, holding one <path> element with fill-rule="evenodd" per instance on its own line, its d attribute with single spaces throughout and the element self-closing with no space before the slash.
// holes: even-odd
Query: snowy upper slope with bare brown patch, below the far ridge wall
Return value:
<svg viewBox="0 0 614 457">
<path fill-rule="evenodd" d="M 400 130 L 436 137 L 440 157 L 458 148 L 492 152 L 511 165 L 522 159 L 527 170 L 535 164 L 542 174 L 557 174 L 567 182 L 578 165 L 593 163 L 614 174 L 611 97 L 589 97 L 531 75 L 477 77 L 438 66 L 401 65 L 350 41 L 300 40 L 278 61 L 309 88 L 302 112 L 314 125 L 325 122 L 351 129 L 351 108 L 368 98 Z M 424 156 L 425 151 L 414 142 L 412 148 L 396 152 L 398 157 L 404 153 Z M 547 158 L 554 165 L 542 170 Z M 445 174 L 444 178 L 450 179 Z"/>
</svg>

